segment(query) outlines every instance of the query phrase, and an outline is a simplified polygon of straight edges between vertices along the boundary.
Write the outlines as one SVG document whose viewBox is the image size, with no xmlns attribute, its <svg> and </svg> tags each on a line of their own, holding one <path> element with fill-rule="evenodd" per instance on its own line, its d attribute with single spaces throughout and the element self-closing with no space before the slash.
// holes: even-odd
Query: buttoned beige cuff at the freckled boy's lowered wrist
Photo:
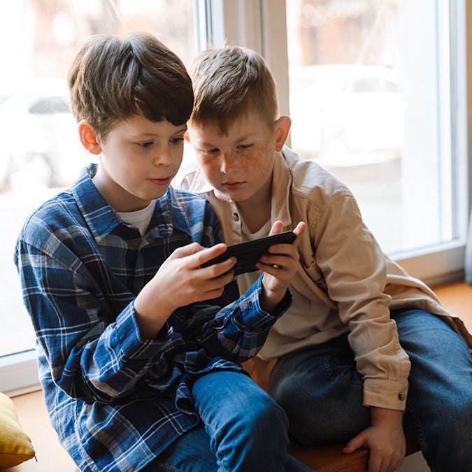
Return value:
<svg viewBox="0 0 472 472">
<path fill-rule="evenodd" d="M 364 406 L 405 411 L 408 380 L 364 380 Z"/>
</svg>

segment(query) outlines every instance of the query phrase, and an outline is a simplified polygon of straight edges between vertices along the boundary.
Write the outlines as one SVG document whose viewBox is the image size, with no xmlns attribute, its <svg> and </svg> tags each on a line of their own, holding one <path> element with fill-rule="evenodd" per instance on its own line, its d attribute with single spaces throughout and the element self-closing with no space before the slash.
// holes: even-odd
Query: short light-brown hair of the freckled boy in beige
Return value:
<svg viewBox="0 0 472 472">
<path fill-rule="evenodd" d="M 239 46 L 207 50 L 196 58 L 191 76 L 192 121 L 218 122 L 226 131 L 230 120 L 251 108 L 273 127 L 278 115 L 276 82 L 257 52 Z"/>
</svg>

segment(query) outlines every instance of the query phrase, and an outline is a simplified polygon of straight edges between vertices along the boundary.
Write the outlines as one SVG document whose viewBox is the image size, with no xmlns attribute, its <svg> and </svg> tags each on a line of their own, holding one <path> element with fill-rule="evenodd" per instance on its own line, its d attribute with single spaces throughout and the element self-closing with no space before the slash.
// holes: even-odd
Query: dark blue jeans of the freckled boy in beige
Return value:
<svg viewBox="0 0 472 472">
<path fill-rule="evenodd" d="M 472 469 L 472 355 L 448 324 L 423 310 L 395 310 L 411 371 L 403 429 L 432 472 Z M 269 392 L 283 406 L 289 434 L 302 445 L 347 442 L 369 427 L 362 377 L 348 337 L 278 360 Z"/>
</svg>

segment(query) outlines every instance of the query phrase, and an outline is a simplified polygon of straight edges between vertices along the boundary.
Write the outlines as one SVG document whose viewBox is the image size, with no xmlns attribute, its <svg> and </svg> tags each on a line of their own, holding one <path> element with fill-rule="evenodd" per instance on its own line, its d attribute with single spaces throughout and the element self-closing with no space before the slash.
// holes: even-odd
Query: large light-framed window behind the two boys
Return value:
<svg viewBox="0 0 472 472">
<path fill-rule="evenodd" d="M 261 52 L 289 144 L 344 180 L 382 248 L 432 283 L 464 267 L 465 18 L 464 0 L 2 3 L 0 390 L 37 381 L 13 247 L 31 210 L 90 160 L 64 82 L 85 38 L 150 31 L 187 65 L 208 43 Z"/>
</svg>

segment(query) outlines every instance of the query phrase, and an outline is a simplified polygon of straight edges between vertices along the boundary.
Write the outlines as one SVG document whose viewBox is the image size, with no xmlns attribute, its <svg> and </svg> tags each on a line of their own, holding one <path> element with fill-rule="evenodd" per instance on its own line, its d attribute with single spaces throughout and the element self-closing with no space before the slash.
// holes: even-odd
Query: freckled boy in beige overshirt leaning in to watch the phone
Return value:
<svg viewBox="0 0 472 472">
<path fill-rule="evenodd" d="M 191 75 L 186 138 L 199 169 L 180 185 L 210 201 L 227 243 L 264 236 L 276 220 L 285 229 L 306 222 L 294 303 L 253 371 L 286 410 L 289 433 L 306 446 L 369 448 L 369 472 L 400 466 L 406 434 L 431 471 L 469 471 L 472 338 L 464 324 L 380 250 L 345 185 L 285 146 L 290 119 L 278 116 L 262 57 L 210 50 Z M 255 277 L 238 276 L 240 289 Z"/>
</svg>

